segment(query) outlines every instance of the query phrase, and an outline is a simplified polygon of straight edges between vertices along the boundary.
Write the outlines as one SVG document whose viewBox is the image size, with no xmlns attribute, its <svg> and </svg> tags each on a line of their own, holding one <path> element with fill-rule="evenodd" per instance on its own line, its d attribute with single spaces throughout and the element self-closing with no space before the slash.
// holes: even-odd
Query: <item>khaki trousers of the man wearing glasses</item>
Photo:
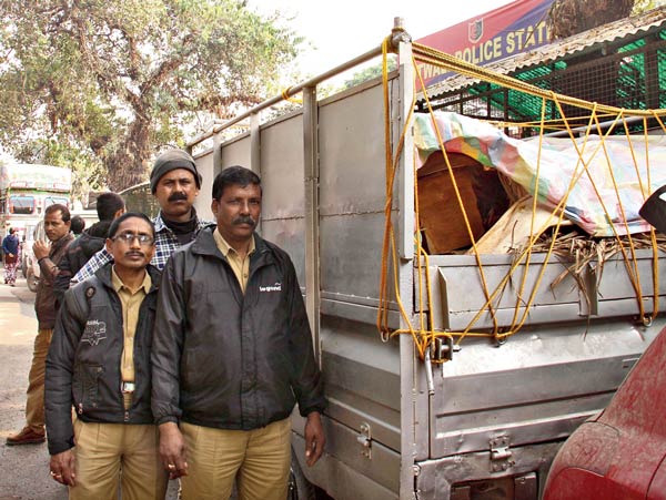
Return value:
<svg viewBox="0 0 666 500">
<path fill-rule="evenodd" d="M 77 486 L 70 500 L 163 500 L 169 472 L 158 452 L 152 425 L 92 424 L 74 420 Z M 122 472 L 122 473 L 121 473 Z"/>
</svg>

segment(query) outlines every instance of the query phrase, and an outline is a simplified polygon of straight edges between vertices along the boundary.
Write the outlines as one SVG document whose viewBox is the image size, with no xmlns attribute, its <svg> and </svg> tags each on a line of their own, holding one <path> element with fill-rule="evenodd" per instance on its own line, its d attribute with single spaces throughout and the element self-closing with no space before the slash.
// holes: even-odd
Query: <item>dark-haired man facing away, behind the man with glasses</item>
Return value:
<svg viewBox="0 0 666 500">
<path fill-rule="evenodd" d="M 124 214 L 124 200 L 120 194 L 108 192 L 99 195 L 97 213 L 100 221 L 70 244 L 60 262 L 58 276 L 53 285 L 58 306 L 62 304 L 62 295 L 68 290 L 72 276 L 85 265 L 90 257 L 104 247 L 109 226 L 115 217 Z"/>
</svg>

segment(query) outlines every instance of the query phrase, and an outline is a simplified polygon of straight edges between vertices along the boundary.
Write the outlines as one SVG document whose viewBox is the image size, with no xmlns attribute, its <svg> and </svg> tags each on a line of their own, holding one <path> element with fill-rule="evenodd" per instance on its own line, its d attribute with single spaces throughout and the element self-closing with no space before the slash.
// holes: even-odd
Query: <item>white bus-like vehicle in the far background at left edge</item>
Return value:
<svg viewBox="0 0 666 500">
<path fill-rule="evenodd" d="M 32 238 L 49 205 L 70 207 L 72 172 L 53 165 L 11 163 L 0 165 L 0 237 L 10 227 L 19 239 Z"/>
</svg>

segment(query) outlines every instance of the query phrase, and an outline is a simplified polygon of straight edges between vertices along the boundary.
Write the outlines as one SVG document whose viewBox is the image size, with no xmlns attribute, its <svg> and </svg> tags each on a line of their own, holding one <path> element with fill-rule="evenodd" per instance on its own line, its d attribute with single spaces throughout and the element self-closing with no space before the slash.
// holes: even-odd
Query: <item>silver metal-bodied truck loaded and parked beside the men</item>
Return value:
<svg viewBox="0 0 666 500">
<path fill-rule="evenodd" d="M 386 51 L 397 70 L 317 98 L 321 82 Z M 666 325 L 664 279 L 649 278 L 664 253 L 635 253 L 638 307 L 618 256 L 585 264 L 581 287 L 547 252 L 529 263 L 422 252 L 413 53 L 397 24 L 382 47 L 290 88 L 301 108 L 262 123 L 275 96 L 195 137 L 196 211 L 211 218 L 222 169 L 252 169 L 263 185 L 259 231 L 297 269 L 327 408 L 312 468 L 293 415 L 292 498 L 317 489 L 336 500 L 536 500 L 562 442 Z M 240 122 L 249 131 L 229 139 Z M 488 297 L 501 284 L 503 296 Z M 516 315 L 522 328 L 503 335 Z"/>
</svg>

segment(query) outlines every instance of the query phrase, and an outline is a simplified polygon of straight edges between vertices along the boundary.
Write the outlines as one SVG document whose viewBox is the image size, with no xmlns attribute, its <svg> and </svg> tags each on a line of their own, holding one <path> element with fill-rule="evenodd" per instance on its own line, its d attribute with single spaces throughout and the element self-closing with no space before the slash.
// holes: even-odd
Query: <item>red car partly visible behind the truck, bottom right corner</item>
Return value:
<svg viewBox="0 0 666 500">
<path fill-rule="evenodd" d="M 564 443 L 543 500 L 666 500 L 666 328 L 598 416 Z"/>
</svg>

